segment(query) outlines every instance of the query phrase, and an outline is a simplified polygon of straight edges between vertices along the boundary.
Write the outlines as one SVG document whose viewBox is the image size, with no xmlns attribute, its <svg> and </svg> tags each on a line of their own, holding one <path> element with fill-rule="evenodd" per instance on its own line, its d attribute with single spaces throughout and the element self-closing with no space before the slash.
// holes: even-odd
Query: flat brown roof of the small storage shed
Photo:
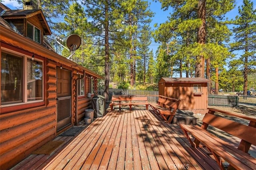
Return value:
<svg viewBox="0 0 256 170">
<path fill-rule="evenodd" d="M 184 78 L 168 78 L 168 77 L 162 77 L 159 82 L 210 82 L 210 80 L 206 78 L 200 78 L 200 77 L 184 77 Z"/>
</svg>

